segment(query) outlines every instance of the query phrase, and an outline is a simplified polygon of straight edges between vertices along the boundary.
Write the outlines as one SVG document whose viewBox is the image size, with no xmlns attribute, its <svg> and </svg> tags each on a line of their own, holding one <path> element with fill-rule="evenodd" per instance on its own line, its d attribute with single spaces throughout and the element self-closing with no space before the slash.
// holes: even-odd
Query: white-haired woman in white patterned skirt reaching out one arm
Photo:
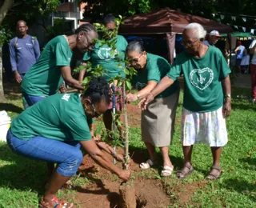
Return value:
<svg viewBox="0 0 256 208">
<path fill-rule="evenodd" d="M 194 144 L 210 146 L 213 165 L 207 179 L 221 176 L 222 146 L 227 143 L 226 120 L 231 113 L 230 67 L 222 52 L 202 42 L 206 31 L 198 23 L 186 26 L 182 34 L 185 51 L 178 55 L 166 77 L 139 103 L 142 109 L 184 74 L 184 102 L 182 110 L 182 148 L 184 165 L 177 173 L 186 178 L 194 170 L 191 162 Z"/>
</svg>

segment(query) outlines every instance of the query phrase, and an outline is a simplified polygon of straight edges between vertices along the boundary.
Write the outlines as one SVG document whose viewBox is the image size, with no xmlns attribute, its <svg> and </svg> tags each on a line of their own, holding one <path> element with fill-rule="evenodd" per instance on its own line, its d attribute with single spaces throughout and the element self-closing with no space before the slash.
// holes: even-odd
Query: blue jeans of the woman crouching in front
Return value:
<svg viewBox="0 0 256 208">
<path fill-rule="evenodd" d="M 40 136 L 22 140 L 15 137 L 11 130 L 8 130 L 6 140 L 10 149 L 17 154 L 36 160 L 58 163 L 56 171 L 62 176 L 75 175 L 82 162 L 83 155 L 80 143 L 77 141 L 61 142 Z"/>
</svg>

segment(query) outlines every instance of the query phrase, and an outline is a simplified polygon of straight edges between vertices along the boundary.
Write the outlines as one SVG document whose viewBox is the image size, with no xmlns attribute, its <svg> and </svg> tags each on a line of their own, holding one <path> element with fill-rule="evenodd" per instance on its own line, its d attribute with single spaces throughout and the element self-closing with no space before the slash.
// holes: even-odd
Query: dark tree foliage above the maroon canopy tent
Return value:
<svg viewBox="0 0 256 208">
<path fill-rule="evenodd" d="M 219 15 L 213 16 L 218 13 L 254 16 L 256 1 L 251 0 L 88 0 L 82 2 L 87 2 L 84 16 L 92 18 L 93 21 L 102 19 L 108 13 L 127 17 L 169 7 L 172 10 L 213 19 L 224 24 L 244 26 L 248 29 L 256 27 L 254 18 L 247 18 L 244 22 L 242 18 L 232 20 L 231 15 L 225 15 L 224 19 L 221 19 Z"/>
</svg>

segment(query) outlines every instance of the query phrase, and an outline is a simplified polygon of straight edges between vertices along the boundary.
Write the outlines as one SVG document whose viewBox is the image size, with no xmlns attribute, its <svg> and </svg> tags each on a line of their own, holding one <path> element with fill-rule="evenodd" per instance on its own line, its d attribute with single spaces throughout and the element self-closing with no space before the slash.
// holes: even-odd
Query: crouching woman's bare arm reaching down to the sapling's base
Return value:
<svg viewBox="0 0 256 208">
<path fill-rule="evenodd" d="M 130 178 L 129 170 L 121 170 L 117 166 L 114 166 L 113 162 L 110 162 L 108 158 L 104 158 L 102 151 L 98 149 L 98 146 L 94 142 L 94 140 L 89 141 L 81 141 L 80 142 L 84 150 L 90 157 L 94 159 L 100 166 L 104 167 L 106 170 L 110 170 L 114 174 L 118 175 L 119 178 L 122 178 L 125 181 L 128 181 Z"/>
</svg>

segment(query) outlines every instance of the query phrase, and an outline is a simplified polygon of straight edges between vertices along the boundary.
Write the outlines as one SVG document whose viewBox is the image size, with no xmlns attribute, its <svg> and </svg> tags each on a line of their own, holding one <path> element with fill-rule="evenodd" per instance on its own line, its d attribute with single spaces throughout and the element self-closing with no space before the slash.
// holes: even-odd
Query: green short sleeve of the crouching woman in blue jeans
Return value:
<svg viewBox="0 0 256 208">
<path fill-rule="evenodd" d="M 75 141 L 87 141 L 91 139 L 90 128 L 85 115 L 74 110 L 74 114 L 69 114 L 65 121 L 65 126 L 70 130 L 70 134 Z"/>
</svg>

